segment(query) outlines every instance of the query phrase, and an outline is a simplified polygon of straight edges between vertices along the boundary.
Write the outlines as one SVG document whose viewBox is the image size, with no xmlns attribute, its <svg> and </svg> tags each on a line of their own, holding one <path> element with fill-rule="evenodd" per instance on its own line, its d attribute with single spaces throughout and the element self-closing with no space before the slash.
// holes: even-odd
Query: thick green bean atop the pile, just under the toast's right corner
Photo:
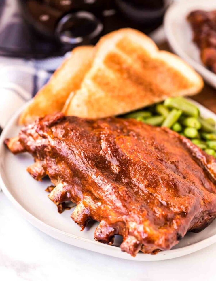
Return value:
<svg viewBox="0 0 216 281">
<path fill-rule="evenodd" d="M 183 97 L 168 98 L 164 101 L 164 105 L 170 108 L 180 109 L 183 113 L 189 116 L 198 117 L 199 115 L 198 108 Z"/>
</svg>

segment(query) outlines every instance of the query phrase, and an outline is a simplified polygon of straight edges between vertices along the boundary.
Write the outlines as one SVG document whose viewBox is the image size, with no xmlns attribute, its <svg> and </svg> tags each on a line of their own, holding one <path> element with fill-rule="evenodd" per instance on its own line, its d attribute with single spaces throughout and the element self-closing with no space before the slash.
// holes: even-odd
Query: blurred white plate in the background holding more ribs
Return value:
<svg viewBox="0 0 216 281">
<path fill-rule="evenodd" d="M 216 88 L 216 74 L 200 60 L 200 51 L 192 42 L 192 29 L 186 20 L 193 10 L 216 10 L 215 0 L 179 0 L 171 5 L 164 17 L 166 37 L 173 52 L 187 61 L 202 77 Z"/>
</svg>

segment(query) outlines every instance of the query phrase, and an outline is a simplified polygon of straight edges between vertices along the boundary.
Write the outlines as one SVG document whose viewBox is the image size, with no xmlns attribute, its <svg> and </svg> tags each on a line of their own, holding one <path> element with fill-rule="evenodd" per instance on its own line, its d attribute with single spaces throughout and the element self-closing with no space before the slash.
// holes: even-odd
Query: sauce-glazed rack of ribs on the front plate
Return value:
<svg viewBox="0 0 216 281">
<path fill-rule="evenodd" d="M 34 157 L 27 171 L 50 177 L 56 205 L 77 204 L 71 218 L 81 229 L 100 222 L 94 238 L 112 244 L 122 235 L 120 248 L 132 256 L 168 250 L 216 216 L 215 158 L 165 127 L 58 113 L 5 144 Z"/>
</svg>

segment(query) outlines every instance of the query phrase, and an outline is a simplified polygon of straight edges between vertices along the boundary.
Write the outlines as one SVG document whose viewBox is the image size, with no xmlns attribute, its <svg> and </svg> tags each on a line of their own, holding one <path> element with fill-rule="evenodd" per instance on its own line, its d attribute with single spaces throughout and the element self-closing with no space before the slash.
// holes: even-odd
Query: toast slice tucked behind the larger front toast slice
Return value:
<svg viewBox="0 0 216 281">
<path fill-rule="evenodd" d="M 71 91 L 78 90 L 90 69 L 93 46 L 80 46 L 54 72 L 48 83 L 39 90 L 33 102 L 22 112 L 20 124 L 33 122 L 37 117 L 61 111 Z"/>
</svg>

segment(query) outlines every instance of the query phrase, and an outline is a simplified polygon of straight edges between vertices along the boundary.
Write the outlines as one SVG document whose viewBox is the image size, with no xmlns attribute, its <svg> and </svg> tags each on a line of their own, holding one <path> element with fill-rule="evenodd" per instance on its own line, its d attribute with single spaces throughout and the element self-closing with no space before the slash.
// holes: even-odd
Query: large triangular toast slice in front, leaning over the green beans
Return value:
<svg viewBox="0 0 216 281">
<path fill-rule="evenodd" d="M 159 51 L 145 34 L 119 29 L 100 39 L 81 88 L 63 112 L 83 118 L 123 114 L 166 99 L 194 95 L 202 78 L 179 57 Z"/>
</svg>

